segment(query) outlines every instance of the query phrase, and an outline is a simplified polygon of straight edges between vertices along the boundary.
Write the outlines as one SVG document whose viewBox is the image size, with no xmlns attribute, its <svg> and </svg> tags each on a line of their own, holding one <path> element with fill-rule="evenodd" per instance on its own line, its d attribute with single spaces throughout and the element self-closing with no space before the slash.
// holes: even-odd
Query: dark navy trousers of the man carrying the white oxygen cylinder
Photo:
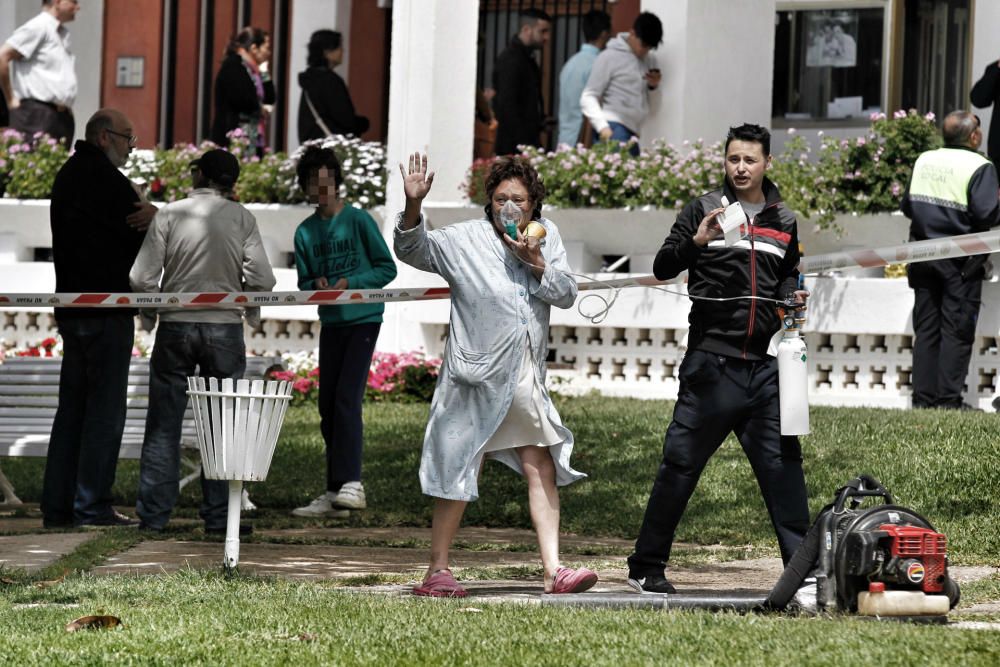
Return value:
<svg viewBox="0 0 1000 667">
<path fill-rule="evenodd" d="M 681 363 L 674 418 L 635 552 L 628 559 L 629 576 L 663 573 L 702 470 L 730 432 L 750 460 L 781 559 L 786 564 L 791 559 L 809 528 L 809 506 L 799 440 L 781 436 L 778 362 L 691 350 Z"/>
</svg>

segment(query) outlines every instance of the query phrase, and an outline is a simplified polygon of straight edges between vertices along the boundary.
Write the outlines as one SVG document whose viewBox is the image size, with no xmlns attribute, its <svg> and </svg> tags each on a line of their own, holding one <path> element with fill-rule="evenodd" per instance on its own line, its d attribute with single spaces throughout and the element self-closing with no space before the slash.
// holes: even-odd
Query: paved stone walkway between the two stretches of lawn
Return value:
<svg viewBox="0 0 1000 667">
<path fill-rule="evenodd" d="M 179 523 L 196 527 L 200 522 Z M 93 536 L 93 532 L 86 531 L 45 532 L 40 518 L 30 512 L 27 515 L 23 512 L 18 512 L 16 516 L 0 515 L 0 567 L 37 571 L 60 556 L 71 553 Z M 423 576 L 428 556 L 424 545 L 429 540 L 429 529 L 413 527 L 264 529 L 258 530 L 253 538 L 240 545 L 240 571 L 305 581 L 342 581 L 373 574 L 396 575 L 389 579 L 393 583 L 357 586 L 357 590 L 408 594 L 413 584 Z M 357 546 L 364 542 L 390 546 Z M 391 546 L 394 544 L 401 546 Z M 541 564 L 533 531 L 463 527 L 456 544 L 459 548 L 452 552 L 452 565 L 460 580 L 463 579 L 462 570 L 466 568 L 523 567 L 532 572 L 537 571 Z M 461 548 L 465 544 L 476 545 L 480 550 Z M 594 587 L 594 593 L 612 597 L 631 594 L 625 583 L 623 555 L 632 547 L 630 540 L 566 535 L 562 537 L 561 544 L 565 562 L 585 564 L 598 571 L 601 580 Z M 484 545 L 494 545 L 495 548 L 482 550 Z M 109 557 L 92 572 L 111 576 L 154 575 L 188 567 L 221 568 L 223 548 L 221 539 L 151 538 Z M 1000 569 L 983 566 L 951 568 L 952 576 L 959 583 L 983 579 L 997 572 Z M 678 590 L 689 595 L 726 592 L 750 597 L 765 596 L 780 574 L 781 561 L 777 558 L 672 566 L 669 572 Z M 465 584 L 470 597 L 482 602 L 504 600 L 537 604 L 542 601 L 540 575 L 502 581 L 466 581 Z M 998 603 L 987 603 L 967 607 L 959 613 L 996 613 L 997 607 Z"/>
</svg>

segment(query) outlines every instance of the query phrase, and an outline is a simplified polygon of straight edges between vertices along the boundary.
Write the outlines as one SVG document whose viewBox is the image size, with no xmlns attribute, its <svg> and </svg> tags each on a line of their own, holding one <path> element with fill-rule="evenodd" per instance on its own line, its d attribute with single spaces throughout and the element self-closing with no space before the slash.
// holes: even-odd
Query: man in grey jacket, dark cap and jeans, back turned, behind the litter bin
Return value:
<svg viewBox="0 0 1000 667">
<path fill-rule="evenodd" d="M 129 274 L 136 292 L 260 292 L 274 287 L 257 221 L 226 199 L 239 177 L 232 154 L 214 149 L 191 163 L 195 189 L 153 218 Z M 161 277 L 162 276 L 162 277 Z M 160 310 L 150 362 L 149 414 L 139 462 L 139 528 L 162 531 L 177 504 L 187 377 L 241 379 L 246 370 L 239 309 Z M 247 313 L 249 318 L 250 313 Z M 206 533 L 225 533 L 228 487 L 201 479 Z M 245 531 L 249 532 L 249 527 Z"/>
</svg>

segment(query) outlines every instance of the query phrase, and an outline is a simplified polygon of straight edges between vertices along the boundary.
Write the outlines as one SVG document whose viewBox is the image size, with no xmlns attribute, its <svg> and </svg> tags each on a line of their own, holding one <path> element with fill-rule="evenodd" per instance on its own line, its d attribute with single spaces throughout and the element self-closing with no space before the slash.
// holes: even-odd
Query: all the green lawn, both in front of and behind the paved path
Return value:
<svg viewBox="0 0 1000 667">
<path fill-rule="evenodd" d="M 659 461 L 671 404 L 585 397 L 559 399 L 577 438 L 574 465 L 590 477 L 563 491 L 564 528 L 634 537 Z M 425 405 L 366 406 L 365 486 L 370 509 L 347 525 L 429 525 L 417 465 Z M 860 472 L 881 479 L 898 502 L 927 516 L 950 541 L 952 562 L 1000 564 L 997 416 L 865 409 L 813 410 L 803 439 L 815 514 Z M 37 500 L 43 462 L 5 459 L 26 500 Z M 137 464 L 123 462 L 117 492 L 134 501 Z M 289 414 L 268 481 L 251 485 L 261 525 L 302 525 L 288 510 L 322 489 L 318 419 Z M 194 485 L 197 486 L 197 485 Z M 523 483 L 503 466 L 483 474 L 467 521 L 528 527 Z M 179 514 L 196 515 L 195 489 Z M 330 522 L 331 524 L 336 522 Z M 773 535 L 749 466 L 735 441 L 710 463 L 679 538 L 723 543 L 734 557 L 774 554 Z M 0 571 L 0 664 L 405 664 L 405 665 L 918 665 L 1000 664 L 995 630 L 960 630 L 852 617 L 788 618 L 707 612 L 550 609 L 521 604 L 428 601 L 349 593 L 343 582 L 303 583 L 217 572 L 93 577 L 85 570 L 141 539 L 102 533 L 35 576 Z M 261 539 L 255 537 L 254 539 Z M 600 553 L 600 551 L 595 551 Z M 621 554 L 615 554 L 619 557 Z M 679 552 L 678 560 L 718 557 Z M 723 556 L 727 557 L 727 556 Z M 575 558 L 575 557 L 573 557 Z M 63 568 L 57 585 L 39 586 Z M 528 568 L 531 569 L 531 568 Z M 463 571 L 466 579 L 533 576 L 516 568 Z M 394 581 L 391 576 L 355 583 Z M 1000 599 L 1000 577 L 963 586 L 963 607 Z M 66 633 L 87 614 L 123 627 Z M 997 622 L 1000 614 L 976 620 Z"/>
</svg>

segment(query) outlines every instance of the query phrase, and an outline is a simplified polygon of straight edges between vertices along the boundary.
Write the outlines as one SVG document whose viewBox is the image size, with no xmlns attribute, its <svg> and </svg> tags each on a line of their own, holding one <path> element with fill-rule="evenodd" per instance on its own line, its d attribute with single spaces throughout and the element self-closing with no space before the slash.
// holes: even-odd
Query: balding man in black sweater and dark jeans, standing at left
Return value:
<svg viewBox="0 0 1000 667">
<path fill-rule="evenodd" d="M 52 186 L 56 292 L 129 292 L 128 273 L 156 207 L 118 170 L 135 146 L 132 123 L 102 109 Z M 56 409 L 45 461 L 46 528 L 129 526 L 112 507 L 125 428 L 132 309 L 56 308 L 63 340 Z"/>
</svg>

